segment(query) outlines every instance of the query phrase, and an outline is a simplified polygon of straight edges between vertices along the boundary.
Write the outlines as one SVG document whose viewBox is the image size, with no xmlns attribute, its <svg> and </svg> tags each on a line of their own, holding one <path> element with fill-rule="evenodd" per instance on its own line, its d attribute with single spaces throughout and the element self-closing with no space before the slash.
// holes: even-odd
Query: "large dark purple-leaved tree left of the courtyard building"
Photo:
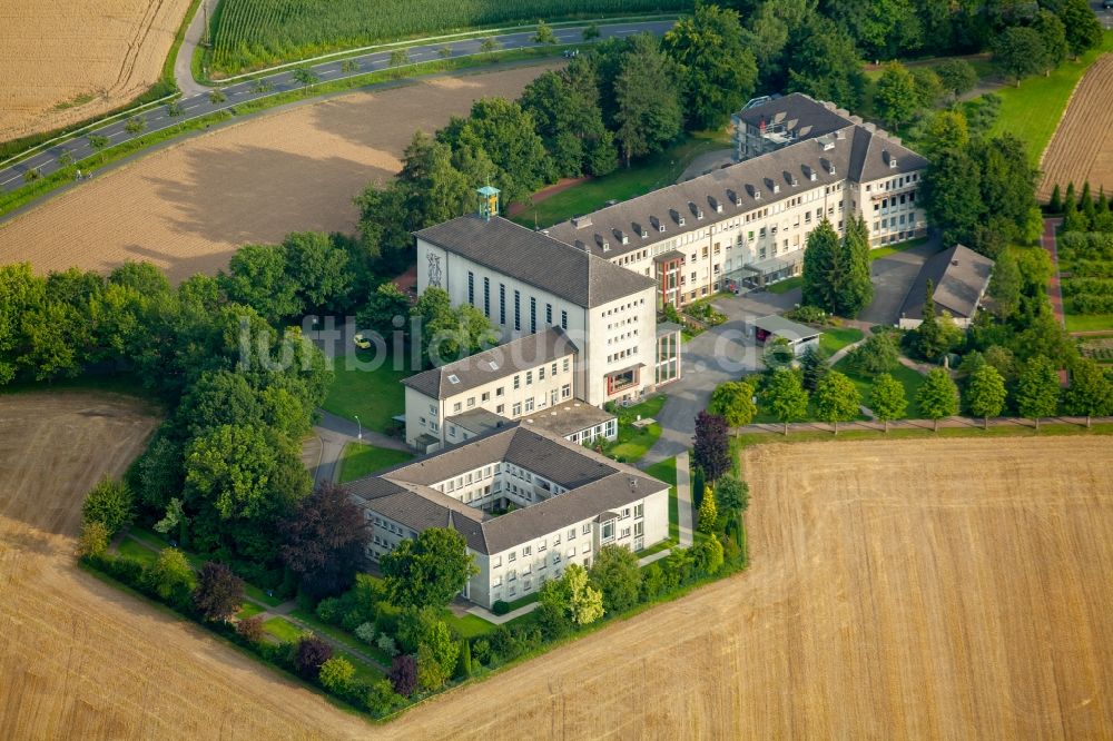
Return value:
<svg viewBox="0 0 1113 741">
<path fill-rule="evenodd" d="M 317 486 L 283 522 L 282 531 L 283 562 L 301 579 L 305 593 L 324 597 L 352 585 L 368 532 L 363 514 L 342 486 Z"/>
</svg>

